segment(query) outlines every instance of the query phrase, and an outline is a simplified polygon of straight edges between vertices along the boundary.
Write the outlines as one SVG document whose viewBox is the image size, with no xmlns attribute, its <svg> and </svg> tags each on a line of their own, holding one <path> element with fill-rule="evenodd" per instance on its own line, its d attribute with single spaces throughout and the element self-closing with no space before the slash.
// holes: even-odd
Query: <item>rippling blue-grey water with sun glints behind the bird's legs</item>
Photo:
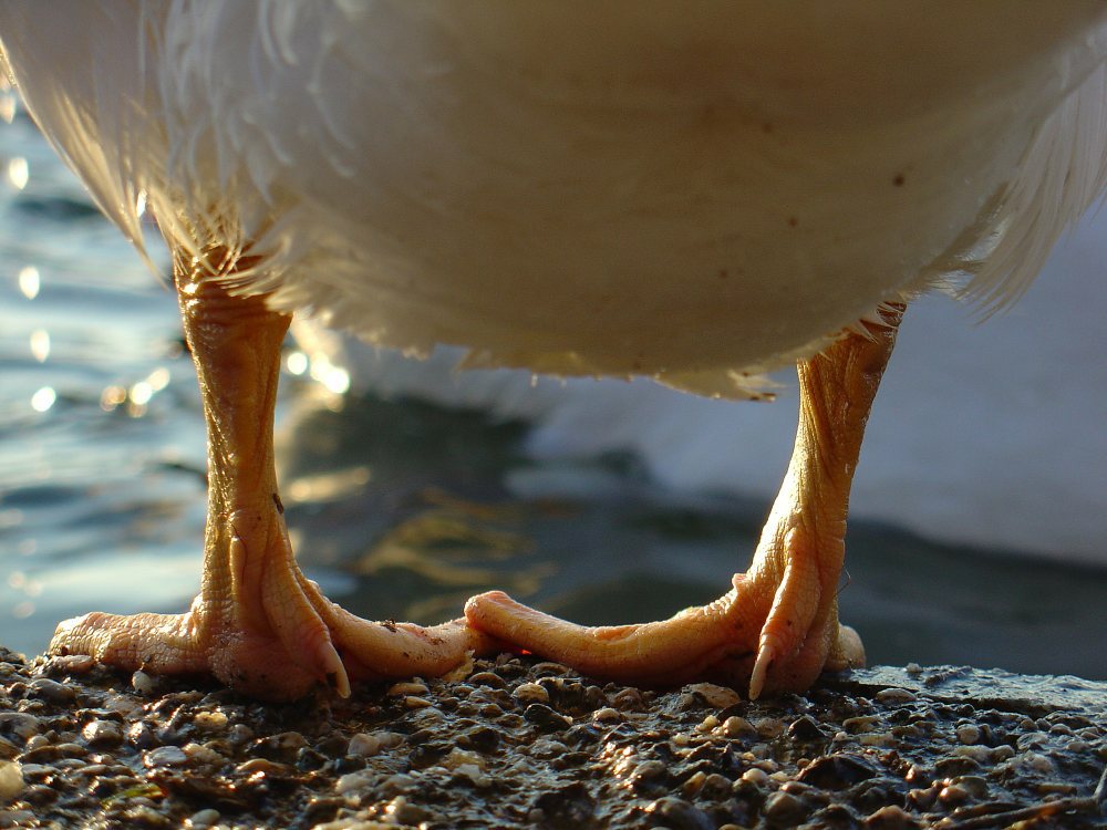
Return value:
<svg viewBox="0 0 1107 830">
<path fill-rule="evenodd" d="M 63 618 L 187 605 L 205 447 L 164 278 L 18 114 L 0 174 L 0 642 L 34 653 Z M 627 455 L 538 463 L 521 424 L 291 374 L 278 428 L 301 562 L 376 619 L 448 619 L 494 587 L 583 622 L 668 615 L 728 585 L 767 508 L 665 490 Z M 876 662 L 1107 678 L 1107 574 L 1015 561 L 855 522 L 842 615 Z"/>
</svg>

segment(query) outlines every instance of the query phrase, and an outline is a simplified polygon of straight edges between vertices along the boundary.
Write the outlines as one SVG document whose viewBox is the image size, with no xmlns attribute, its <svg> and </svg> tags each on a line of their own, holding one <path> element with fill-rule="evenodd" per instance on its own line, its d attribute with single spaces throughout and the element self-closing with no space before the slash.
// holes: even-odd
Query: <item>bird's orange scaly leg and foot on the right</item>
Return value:
<svg viewBox="0 0 1107 830">
<path fill-rule="evenodd" d="M 799 427 L 784 485 L 753 563 L 733 590 L 661 622 L 583 627 L 501 592 L 469 600 L 469 624 L 586 674 L 670 686 L 748 683 L 749 697 L 799 692 L 824 668 L 865 663 L 860 637 L 838 624 L 849 487 L 865 423 L 903 307 L 798 365 Z"/>
</svg>

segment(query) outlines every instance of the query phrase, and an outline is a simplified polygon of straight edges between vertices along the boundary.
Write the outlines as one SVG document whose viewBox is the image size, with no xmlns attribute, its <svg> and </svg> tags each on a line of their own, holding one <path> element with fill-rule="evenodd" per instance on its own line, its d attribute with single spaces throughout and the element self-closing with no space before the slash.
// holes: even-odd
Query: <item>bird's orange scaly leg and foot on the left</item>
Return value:
<svg viewBox="0 0 1107 830">
<path fill-rule="evenodd" d="M 208 518 L 200 593 L 185 614 L 93 613 L 58 626 L 53 654 L 122 668 L 211 673 L 252 697 L 291 701 L 315 683 L 442 675 L 495 644 L 455 620 L 374 623 L 330 602 L 296 564 L 277 495 L 273 405 L 290 318 L 234 297 L 213 277 L 220 252 L 174 264 L 208 432 Z M 223 268 L 226 270 L 226 267 Z"/>
</svg>

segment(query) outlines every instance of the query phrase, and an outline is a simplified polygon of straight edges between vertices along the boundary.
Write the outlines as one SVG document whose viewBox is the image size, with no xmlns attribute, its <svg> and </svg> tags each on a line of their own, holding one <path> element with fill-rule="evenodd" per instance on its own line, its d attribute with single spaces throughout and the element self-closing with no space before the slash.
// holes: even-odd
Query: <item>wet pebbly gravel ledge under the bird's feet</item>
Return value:
<svg viewBox="0 0 1107 830">
<path fill-rule="evenodd" d="M 0 828 L 1076 830 L 1107 828 L 1105 765 L 1107 684 L 1072 677 L 876 668 L 748 703 L 503 656 L 273 706 L 0 647 Z"/>
</svg>

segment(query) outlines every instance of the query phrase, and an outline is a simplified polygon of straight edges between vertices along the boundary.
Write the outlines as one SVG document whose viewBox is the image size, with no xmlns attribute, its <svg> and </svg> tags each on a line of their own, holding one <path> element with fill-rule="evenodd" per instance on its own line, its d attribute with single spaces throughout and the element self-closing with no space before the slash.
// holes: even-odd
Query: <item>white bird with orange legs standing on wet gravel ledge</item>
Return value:
<svg viewBox="0 0 1107 830">
<path fill-rule="evenodd" d="M 101 208 L 174 255 L 204 395 L 203 588 L 51 649 L 263 697 L 441 674 L 497 641 L 640 683 L 798 689 L 861 658 L 835 592 L 904 303 L 1007 305 L 1107 181 L 1107 8 L 205 0 L 0 7 L 9 73 Z M 754 561 L 671 620 L 475 598 L 372 623 L 298 570 L 272 467 L 293 312 L 468 365 L 762 394 L 800 419 Z"/>
</svg>

